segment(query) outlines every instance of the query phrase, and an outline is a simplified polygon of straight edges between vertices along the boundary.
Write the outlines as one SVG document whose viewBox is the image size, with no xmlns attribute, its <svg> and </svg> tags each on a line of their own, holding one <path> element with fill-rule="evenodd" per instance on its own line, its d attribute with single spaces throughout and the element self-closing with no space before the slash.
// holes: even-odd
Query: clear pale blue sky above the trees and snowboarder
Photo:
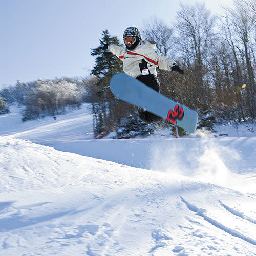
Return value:
<svg viewBox="0 0 256 256">
<path fill-rule="evenodd" d="M 196 1 L 183 0 L 193 4 Z M 232 0 L 205 0 L 217 12 Z M 145 27 L 156 16 L 172 25 L 175 0 L 0 0 L 0 88 L 37 78 L 87 76 L 94 66 L 91 48 L 102 30 L 122 39 L 125 28 Z"/>
</svg>

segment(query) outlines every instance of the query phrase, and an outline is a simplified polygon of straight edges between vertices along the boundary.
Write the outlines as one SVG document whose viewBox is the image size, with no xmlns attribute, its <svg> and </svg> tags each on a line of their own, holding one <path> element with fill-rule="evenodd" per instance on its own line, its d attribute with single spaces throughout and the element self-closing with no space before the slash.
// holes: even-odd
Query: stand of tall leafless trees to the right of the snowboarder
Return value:
<svg viewBox="0 0 256 256">
<path fill-rule="evenodd" d="M 208 109 L 218 119 L 255 118 L 255 3 L 234 1 L 222 16 L 212 15 L 203 4 L 181 6 L 175 27 L 169 29 L 175 41 L 165 51 L 175 56 L 185 75 L 160 72 L 165 94 L 190 108 Z M 165 32 L 160 28 L 156 22 L 145 34 L 154 37 L 157 31 L 161 37 Z"/>
</svg>

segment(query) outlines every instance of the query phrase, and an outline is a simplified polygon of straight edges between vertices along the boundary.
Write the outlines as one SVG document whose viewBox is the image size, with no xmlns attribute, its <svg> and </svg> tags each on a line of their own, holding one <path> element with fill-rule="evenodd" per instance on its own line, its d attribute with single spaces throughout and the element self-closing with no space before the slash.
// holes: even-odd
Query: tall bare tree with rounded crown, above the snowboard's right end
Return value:
<svg viewBox="0 0 256 256">
<path fill-rule="evenodd" d="M 177 41 L 184 64 L 194 73 L 190 81 L 190 92 L 194 95 L 192 104 L 203 108 L 208 103 L 209 84 L 204 78 L 207 74 L 209 47 L 216 37 L 215 26 L 216 16 L 211 15 L 204 4 L 181 5 L 177 13 Z"/>
</svg>

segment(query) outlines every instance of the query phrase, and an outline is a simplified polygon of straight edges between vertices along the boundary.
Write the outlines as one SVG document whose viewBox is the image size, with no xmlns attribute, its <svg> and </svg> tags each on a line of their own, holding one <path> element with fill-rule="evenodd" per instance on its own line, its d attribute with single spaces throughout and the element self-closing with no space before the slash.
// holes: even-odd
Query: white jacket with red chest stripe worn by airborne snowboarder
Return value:
<svg viewBox="0 0 256 256">
<path fill-rule="evenodd" d="M 140 40 L 138 46 L 133 50 L 127 50 L 114 44 L 110 44 L 108 50 L 123 61 L 123 71 L 134 78 L 142 75 L 139 63 L 144 59 L 151 74 L 157 76 L 156 67 L 159 69 L 171 70 L 176 65 L 175 61 L 161 55 L 156 50 L 154 41 Z"/>
</svg>

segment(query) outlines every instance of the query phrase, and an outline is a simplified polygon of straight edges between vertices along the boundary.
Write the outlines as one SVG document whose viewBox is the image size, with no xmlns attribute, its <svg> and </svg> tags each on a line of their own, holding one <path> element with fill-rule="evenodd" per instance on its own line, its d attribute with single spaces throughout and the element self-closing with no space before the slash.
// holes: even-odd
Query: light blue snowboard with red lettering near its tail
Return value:
<svg viewBox="0 0 256 256">
<path fill-rule="evenodd" d="M 118 99 L 167 119 L 189 133 L 194 133 L 197 129 L 196 111 L 163 96 L 125 73 L 115 74 L 111 78 L 110 89 Z"/>
</svg>

